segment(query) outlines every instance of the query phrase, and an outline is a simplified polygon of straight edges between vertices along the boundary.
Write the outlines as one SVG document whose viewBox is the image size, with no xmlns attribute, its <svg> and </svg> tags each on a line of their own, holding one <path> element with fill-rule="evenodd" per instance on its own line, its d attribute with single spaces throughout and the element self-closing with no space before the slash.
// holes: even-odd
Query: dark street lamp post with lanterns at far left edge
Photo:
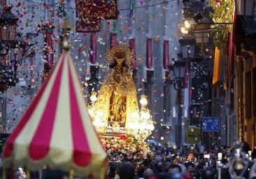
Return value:
<svg viewBox="0 0 256 179">
<path fill-rule="evenodd" d="M 18 17 L 10 12 L 11 7 L 4 6 L 4 12 L 0 16 L 0 90 L 3 93 L 1 96 L 1 133 L 6 133 L 6 94 L 9 85 L 15 85 L 18 82 L 16 77 L 17 71 L 17 50 L 10 54 L 10 48 L 16 48 L 20 45 L 16 39 L 16 27 Z M 17 43 L 17 44 L 16 44 Z"/>
</svg>

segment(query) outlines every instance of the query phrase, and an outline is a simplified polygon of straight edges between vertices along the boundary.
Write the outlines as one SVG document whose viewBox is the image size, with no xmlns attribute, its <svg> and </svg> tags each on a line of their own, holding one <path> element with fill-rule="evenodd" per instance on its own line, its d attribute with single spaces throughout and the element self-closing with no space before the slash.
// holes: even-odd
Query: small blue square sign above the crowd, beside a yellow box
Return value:
<svg viewBox="0 0 256 179">
<path fill-rule="evenodd" d="M 220 117 L 204 117 L 203 131 L 220 131 Z"/>
</svg>

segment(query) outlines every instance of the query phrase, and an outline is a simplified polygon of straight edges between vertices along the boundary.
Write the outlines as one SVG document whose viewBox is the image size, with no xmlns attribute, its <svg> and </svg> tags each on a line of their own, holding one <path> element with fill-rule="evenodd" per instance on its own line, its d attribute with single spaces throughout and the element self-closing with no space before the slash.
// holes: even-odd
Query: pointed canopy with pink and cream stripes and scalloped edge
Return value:
<svg viewBox="0 0 256 179">
<path fill-rule="evenodd" d="M 73 169 L 99 176 L 106 166 L 101 145 L 69 52 L 63 52 L 3 149 L 3 167 Z"/>
</svg>

